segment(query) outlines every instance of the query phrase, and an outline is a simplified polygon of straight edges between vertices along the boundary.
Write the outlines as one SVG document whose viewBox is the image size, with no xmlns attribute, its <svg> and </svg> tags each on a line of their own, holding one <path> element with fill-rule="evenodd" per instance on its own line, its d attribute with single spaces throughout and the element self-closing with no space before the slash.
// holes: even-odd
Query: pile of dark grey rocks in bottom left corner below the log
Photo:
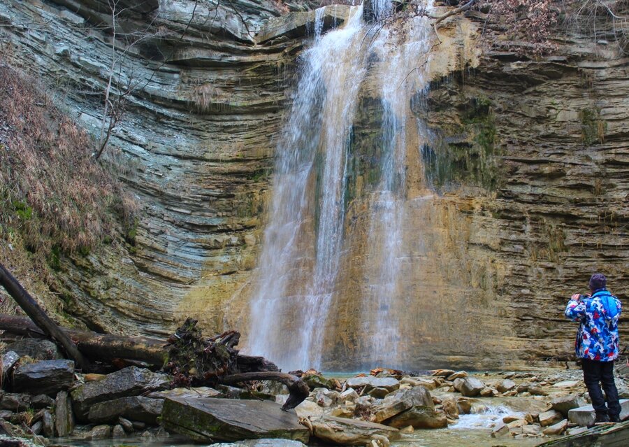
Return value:
<svg viewBox="0 0 629 447">
<path fill-rule="evenodd" d="M 51 358 L 52 357 L 52 358 Z M 78 374 L 71 360 L 55 358 L 53 343 L 24 340 L 2 355 L 0 428 L 13 437 L 103 439 L 152 436 L 170 378 L 128 367 L 112 374 Z M 80 424 L 80 425 L 77 425 Z"/>
</svg>

